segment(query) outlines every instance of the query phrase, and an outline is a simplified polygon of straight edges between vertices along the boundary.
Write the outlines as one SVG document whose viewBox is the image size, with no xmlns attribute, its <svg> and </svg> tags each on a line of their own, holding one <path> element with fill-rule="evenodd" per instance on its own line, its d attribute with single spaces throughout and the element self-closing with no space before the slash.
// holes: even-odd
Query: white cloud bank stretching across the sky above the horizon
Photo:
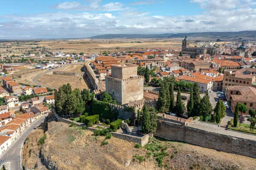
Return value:
<svg viewBox="0 0 256 170">
<path fill-rule="evenodd" d="M 78 3 L 60 6 L 63 9 L 86 9 L 90 12 L 42 13 L 27 16 L 2 16 L 0 35 L 9 38 L 74 38 L 107 33 L 187 33 L 206 31 L 256 30 L 254 0 L 191 0 L 204 9 L 200 15 L 150 15 L 130 10 L 122 3 L 101 5 L 91 0 L 85 7 Z M 236 4 L 236 5 L 234 5 Z M 256 4 L 255 4 L 256 5 Z M 99 11 L 100 12 L 96 12 Z M 111 11 L 115 12 L 115 15 Z M 105 11 L 105 12 L 102 12 Z M 107 11 L 107 12 L 106 12 Z"/>
</svg>

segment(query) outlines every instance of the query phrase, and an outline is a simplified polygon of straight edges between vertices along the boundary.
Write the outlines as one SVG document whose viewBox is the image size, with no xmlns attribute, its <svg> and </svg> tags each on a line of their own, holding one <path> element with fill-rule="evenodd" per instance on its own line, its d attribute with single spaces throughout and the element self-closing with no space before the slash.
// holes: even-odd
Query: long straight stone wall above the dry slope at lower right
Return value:
<svg viewBox="0 0 256 170">
<path fill-rule="evenodd" d="M 256 158 L 256 141 L 187 127 L 181 123 L 159 120 L 155 136 Z"/>
</svg>

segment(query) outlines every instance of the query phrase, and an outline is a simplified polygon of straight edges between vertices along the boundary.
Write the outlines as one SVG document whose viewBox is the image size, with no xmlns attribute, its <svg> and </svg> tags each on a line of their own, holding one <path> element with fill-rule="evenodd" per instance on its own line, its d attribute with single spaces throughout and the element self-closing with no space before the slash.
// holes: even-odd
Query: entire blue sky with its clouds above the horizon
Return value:
<svg viewBox="0 0 256 170">
<path fill-rule="evenodd" d="M 0 39 L 256 30 L 256 0 L 1 0 Z"/>
</svg>

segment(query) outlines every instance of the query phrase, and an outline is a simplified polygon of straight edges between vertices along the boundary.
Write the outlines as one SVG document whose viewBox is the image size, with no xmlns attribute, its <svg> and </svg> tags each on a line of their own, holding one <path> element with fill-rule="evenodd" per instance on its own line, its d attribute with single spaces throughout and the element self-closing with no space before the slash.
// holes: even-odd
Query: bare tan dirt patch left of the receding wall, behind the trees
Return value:
<svg viewBox="0 0 256 170">
<path fill-rule="evenodd" d="M 59 88 L 63 84 L 70 83 L 73 88 L 79 88 L 81 90 L 83 88 L 88 89 L 88 85 L 83 79 L 83 72 L 81 71 L 82 67 L 83 65 L 81 63 L 63 66 L 60 69 L 54 69 L 50 72 L 44 72 L 43 74 L 40 74 L 37 77 L 37 81 L 45 86 L 52 88 Z M 79 74 L 76 76 L 54 75 L 53 71 L 75 72 Z"/>
</svg>

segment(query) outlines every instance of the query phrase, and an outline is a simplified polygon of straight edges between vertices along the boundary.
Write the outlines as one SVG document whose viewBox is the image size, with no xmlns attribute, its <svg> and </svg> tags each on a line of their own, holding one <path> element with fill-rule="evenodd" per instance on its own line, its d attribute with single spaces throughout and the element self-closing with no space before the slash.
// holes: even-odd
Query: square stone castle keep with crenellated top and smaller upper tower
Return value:
<svg viewBox="0 0 256 170">
<path fill-rule="evenodd" d="M 144 78 L 137 75 L 137 65 L 111 65 L 111 76 L 106 76 L 106 92 L 120 105 L 143 99 Z"/>
</svg>

